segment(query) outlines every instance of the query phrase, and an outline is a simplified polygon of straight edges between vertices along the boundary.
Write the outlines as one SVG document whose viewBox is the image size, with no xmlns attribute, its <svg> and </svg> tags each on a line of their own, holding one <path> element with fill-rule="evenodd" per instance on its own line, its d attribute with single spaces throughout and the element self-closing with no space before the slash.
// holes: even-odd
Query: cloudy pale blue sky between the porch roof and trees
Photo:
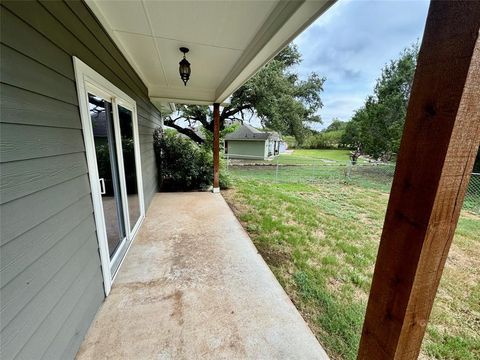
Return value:
<svg viewBox="0 0 480 360">
<path fill-rule="evenodd" d="M 373 93 L 382 67 L 421 41 L 428 0 L 339 0 L 300 34 L 301 78 L 316 72 L 326 77 L 321 94 L 323 124 L 350 120 Z"/>
</svg>

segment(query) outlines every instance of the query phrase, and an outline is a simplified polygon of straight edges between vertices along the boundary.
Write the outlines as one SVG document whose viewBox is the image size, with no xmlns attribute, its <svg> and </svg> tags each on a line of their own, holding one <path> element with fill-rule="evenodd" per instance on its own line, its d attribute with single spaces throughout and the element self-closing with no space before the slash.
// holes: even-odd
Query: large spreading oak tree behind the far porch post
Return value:
<svg viewBox="0 0 480 360">
<path fill-rule="evenodd" d="M 256 115 L 262 126 L 284 135 L 293 135 L 303 142 L 309 122 L 321 122 L 316 114 L 323 104 L 320 93 L 325 78 L 312 73 L 300 80 L 292 67 L 302 61 L 295 45 L 283 49 L 273 60 L 235 91 L 230 104 L 220 113 L 220 129 L 226 120 L 249 120 Z M 177 105 L 178 116 L 166 116 L 164 123 L 189 136 L 199 144 L 204 140 L 192 130 L 198 123 L 213 131 L 212 110 L 208 106 Z M 186 121 L 188 126 L 182 126 Z"/>
</svg>

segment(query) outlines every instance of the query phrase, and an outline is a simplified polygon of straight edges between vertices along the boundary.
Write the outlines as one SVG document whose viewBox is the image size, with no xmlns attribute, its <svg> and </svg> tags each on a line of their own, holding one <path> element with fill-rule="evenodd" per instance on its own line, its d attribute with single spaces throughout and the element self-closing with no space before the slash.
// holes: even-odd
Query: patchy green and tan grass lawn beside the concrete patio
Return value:
<svg viewBox="0 0 480 360">
<path fill-rule="evenodd" d="M 233 172 L 224 197 L 329 355 L 355 359 L 388 187 L 335 177 L 274 183 L 258 171 Z M 480 358 L 479 234 L 480 216 L 462 212 L 422 358 Z"/>
</svg>

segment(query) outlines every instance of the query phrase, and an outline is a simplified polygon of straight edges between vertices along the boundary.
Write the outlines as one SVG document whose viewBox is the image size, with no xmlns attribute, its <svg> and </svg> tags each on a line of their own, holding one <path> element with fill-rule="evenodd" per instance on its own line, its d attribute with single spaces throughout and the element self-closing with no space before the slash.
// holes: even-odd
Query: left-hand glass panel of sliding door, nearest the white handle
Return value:
<svg viewBox="0 0 480 360">
<path fill-rule="evenodd" d="M 110 259 L 126 238 L 112 104 L 88 94 Z"/>
</svg>

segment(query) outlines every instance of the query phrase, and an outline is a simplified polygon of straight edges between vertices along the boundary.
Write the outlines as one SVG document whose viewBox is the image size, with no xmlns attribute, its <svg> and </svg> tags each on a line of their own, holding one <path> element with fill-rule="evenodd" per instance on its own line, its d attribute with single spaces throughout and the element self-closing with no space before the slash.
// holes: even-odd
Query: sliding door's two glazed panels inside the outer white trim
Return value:
<svg viewBox="0 0 480 360">
<path fill-rule="evenodd" d="M 119 104 L 121 102 L 122 105 Z M 116 273 L 143 215 L 133 107 L 103 92 L 88 92 L 93 144 L 110 271 Z"/>
</svg>

